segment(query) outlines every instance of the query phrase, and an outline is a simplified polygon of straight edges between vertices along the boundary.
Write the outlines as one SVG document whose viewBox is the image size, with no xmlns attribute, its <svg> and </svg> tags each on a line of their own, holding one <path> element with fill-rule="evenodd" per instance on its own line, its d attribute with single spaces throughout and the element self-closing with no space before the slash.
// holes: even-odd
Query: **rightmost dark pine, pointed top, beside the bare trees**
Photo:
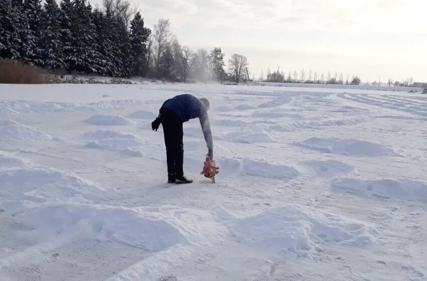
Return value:
<svg viewBox="0 0 427 281">
<path fill-rule="evenodd" d="M 145 74 L 147 62 L 147 41 L 151 30 L 144 27 L 144 19 L 137 13 L 131 21 L 130 31 L 130 56 L 134 75 Z"/>
</svg>

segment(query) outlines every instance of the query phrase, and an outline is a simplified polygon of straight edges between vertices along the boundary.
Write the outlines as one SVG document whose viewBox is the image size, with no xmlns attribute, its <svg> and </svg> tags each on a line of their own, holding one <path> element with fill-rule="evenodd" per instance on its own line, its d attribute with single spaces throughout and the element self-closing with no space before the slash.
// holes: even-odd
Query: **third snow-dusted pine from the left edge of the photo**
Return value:
<svg viewBox="0 0 427 281">
<path fill-rule="evenodd" d="M 46 0 L 43 11 L 43 61 L 52 70 L 64 68 L 63 43 L 60 30 L 61 11 L 55 0 Z"/>
</svg>

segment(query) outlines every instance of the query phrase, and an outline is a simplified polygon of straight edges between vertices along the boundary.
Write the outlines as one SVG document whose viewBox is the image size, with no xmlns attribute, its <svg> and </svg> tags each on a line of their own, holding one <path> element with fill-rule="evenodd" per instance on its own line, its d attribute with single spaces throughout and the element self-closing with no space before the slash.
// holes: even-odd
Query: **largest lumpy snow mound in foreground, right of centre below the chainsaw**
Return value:
<svg viewBox="0 0 427 281">
<path fill-rule="evenodd" d="M 236 218 L 221 207 L 217 216 L 238 242 L 263 249 L 287 250 L 309 256 L 326 243 L 363 246 L 375 241 L 376 231 L 366 225 L 313 208 L 288 205 L 253 216 Z"/>
</svg>

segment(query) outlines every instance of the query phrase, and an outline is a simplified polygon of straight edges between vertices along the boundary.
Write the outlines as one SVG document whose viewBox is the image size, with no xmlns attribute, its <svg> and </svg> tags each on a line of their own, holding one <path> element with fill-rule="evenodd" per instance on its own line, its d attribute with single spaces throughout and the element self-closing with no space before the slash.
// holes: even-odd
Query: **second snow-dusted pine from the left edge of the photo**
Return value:
<svg viewBox="0 0 427 281">
<path fill-rule="evenodd" d="M 43 66 L 41 47 L 41 0 L 24 0 L 22 57 L 24 62 Z"/>
</svg>

